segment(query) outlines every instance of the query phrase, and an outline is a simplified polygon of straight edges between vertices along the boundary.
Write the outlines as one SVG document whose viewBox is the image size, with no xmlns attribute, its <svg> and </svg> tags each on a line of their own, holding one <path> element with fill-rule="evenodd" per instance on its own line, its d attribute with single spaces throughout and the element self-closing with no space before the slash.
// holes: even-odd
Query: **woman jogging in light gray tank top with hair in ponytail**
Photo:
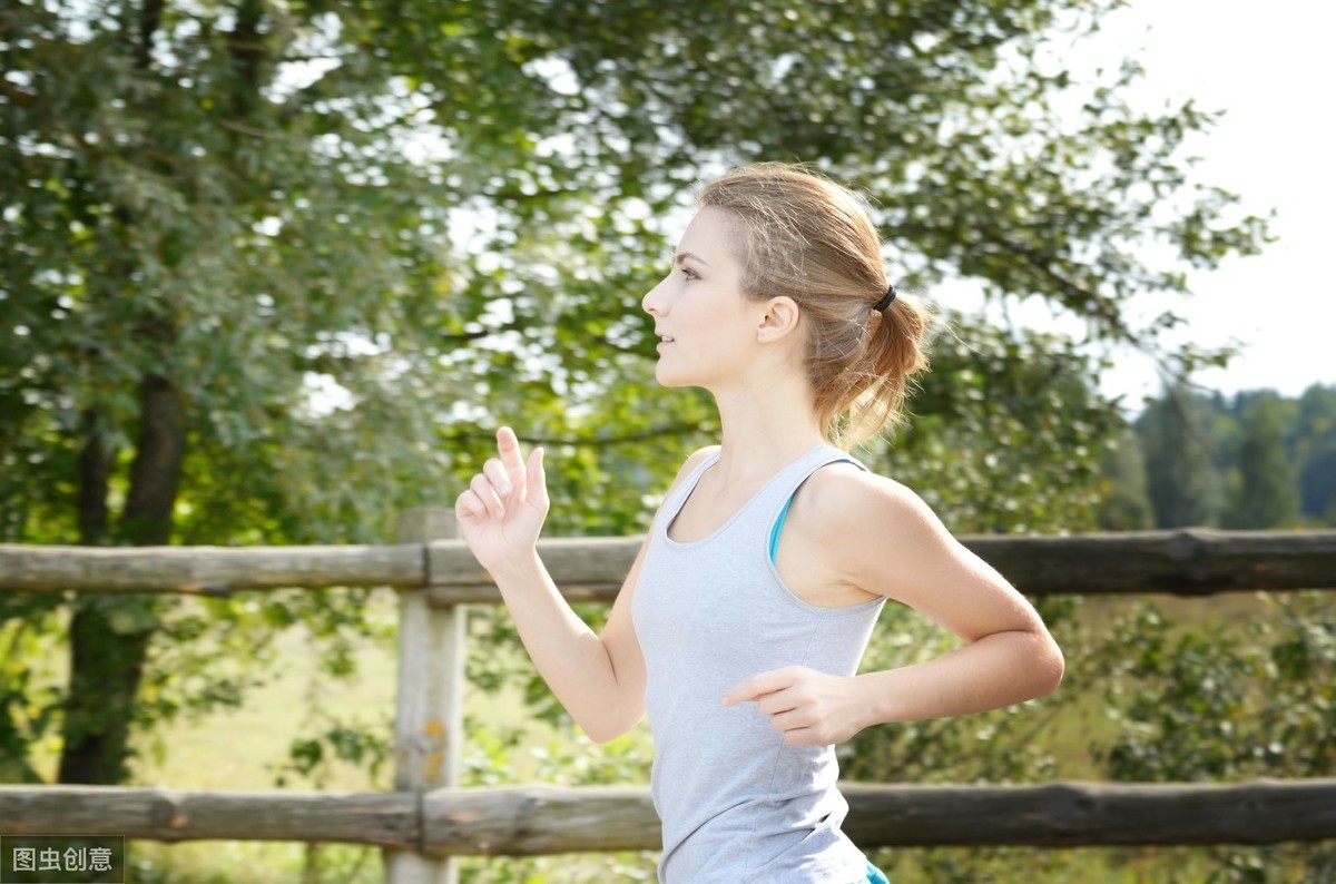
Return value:
<svg viewBox="0 0 1336 884">
<path fill-rule="evenodd" d="M 464 537 L 591 738 L 648 712 L 661 881 L 884 880 L 840 832 L 835 744 L 1021 702 L 1062 677 L 1025 598 L 912 491 L 835 446 L 898 418 L 926 365 L 926 315 L 896 298 L 858 198 L 778 164 L 704 187 L 643 306 L 656 378 L 713 394 L 721 438 L 683 465 L 603 634 L 536 553 L 542 450 L 525 458 L 508 427 L 456 503 Z M 887 598 L 963 646 L 855 674 Z"/>
</svg>

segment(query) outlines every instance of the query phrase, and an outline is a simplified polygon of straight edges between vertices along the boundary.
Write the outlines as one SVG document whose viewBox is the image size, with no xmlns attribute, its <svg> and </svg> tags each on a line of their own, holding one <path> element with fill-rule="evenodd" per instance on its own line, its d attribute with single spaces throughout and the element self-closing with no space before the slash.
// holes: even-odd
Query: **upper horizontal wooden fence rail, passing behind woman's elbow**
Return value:
<svg viewBox="0 0 1336 884">
<path fill-rule="evenodd" d="M 538 545 L 572 601 L 611 601 L 641 538 Z M 1336 589 L 1336 531 L 1125 531 L 961 541 L 1030 596 Z M 426 588 L 433 605 L 500 604 L 464 541 L 387 546 L 17 546 L 0 592 L 194 593 L 327 586 Z"/>
</svg>

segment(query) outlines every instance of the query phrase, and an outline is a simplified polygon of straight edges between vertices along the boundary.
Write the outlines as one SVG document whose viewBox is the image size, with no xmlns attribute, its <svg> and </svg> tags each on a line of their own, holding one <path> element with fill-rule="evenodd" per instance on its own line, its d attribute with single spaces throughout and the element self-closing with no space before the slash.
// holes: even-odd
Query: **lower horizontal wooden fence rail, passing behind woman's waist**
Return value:
<svg viewBox="0 0 1336 884">
<path fill-rule="evenodd" d="M 1336 837 L 1336 779 L 1237 784 L 844 783 L 862 848 L 1277 844 Z M 343 841 L 430 856 L 657 851 L 649 793 L 506 787 L 413 793 L 0 787 L 0 836 Z"/>
</svg>

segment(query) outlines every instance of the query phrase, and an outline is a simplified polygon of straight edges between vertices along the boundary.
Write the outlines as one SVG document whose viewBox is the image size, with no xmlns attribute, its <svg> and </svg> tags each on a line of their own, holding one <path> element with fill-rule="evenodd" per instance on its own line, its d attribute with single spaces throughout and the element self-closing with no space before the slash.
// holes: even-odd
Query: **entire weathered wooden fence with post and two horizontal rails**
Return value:
<svg viewBox="0 0 1336 884">
<path fill-rule="evenodd" d="M 329 586 L 399 592 L 394 792 L 0 787 L 0 836 L 381 845 L 391 884 L 454 880 L 450 857 L 655 849 L 643 788 L 458 788 L 465 605 L 500 594 L 453 515 L 414 510 L 391 546 L 0 545 L 0 592 L 194 593 Z M 1336 589 L 1336 531 L 965 537 L 1029 596 Z M 611 601 L 640 538 L 540 545 L 572 601 Z M 1240 784 L 843 787 L 862 847 L 1275 844 L 1336 839 L 1336 779 Z"/>
</svg>

